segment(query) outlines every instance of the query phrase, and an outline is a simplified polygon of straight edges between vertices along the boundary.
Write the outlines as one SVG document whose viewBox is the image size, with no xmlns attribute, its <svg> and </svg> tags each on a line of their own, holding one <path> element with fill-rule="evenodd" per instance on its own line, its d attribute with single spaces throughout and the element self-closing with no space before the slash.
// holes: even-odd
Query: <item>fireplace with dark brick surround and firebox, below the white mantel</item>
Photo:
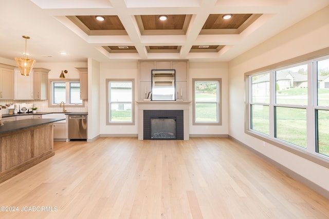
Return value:
<svg viewBox="0 0 329 219">
<path fill-rule="evenodd" d="M 144 140 L 184 140 L 183 110 L 143 110 Z"/>
</svg>

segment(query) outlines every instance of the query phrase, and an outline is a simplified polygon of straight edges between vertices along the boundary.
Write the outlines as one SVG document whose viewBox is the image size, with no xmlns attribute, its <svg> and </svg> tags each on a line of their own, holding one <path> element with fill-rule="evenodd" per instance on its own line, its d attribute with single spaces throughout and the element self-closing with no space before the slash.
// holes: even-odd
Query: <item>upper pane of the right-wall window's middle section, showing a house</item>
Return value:
<svg viewBox="0 0 329 219">
<path fill-rule="evenodd" d="M 276 103 L 307 105 L 307 65 L 276 72 Z"/>
</svg>

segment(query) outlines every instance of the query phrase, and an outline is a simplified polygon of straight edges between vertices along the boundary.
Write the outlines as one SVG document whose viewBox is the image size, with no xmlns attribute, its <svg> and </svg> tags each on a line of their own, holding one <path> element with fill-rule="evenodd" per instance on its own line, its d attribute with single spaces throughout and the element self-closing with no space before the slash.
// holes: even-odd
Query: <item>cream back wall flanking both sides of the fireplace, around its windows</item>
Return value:
<svg viewBox="0 0 329 219">
<path fill-rule="evenodd" d="M 135 104 L 135 125 L 111 126 L 106 125 L 106 78 L 134 78 L 135 101 L 138 100 L 138 63 L 137 62 L 109 62 L 100 64 L 100 133 L 111 135 L 137 135 L 138 133 L 138 105 Z M 189 99 L 192 101 L 192 78 L 222 78 L 222 125 L 221 126 L 193 126 L 192 104 L 190 106 L 190 134 L 218 135 L 228 134 L 228 75 L 227 63 L 189 63 Z M 151 74 L 151 72 L 150 72 Z"/>
</svg>

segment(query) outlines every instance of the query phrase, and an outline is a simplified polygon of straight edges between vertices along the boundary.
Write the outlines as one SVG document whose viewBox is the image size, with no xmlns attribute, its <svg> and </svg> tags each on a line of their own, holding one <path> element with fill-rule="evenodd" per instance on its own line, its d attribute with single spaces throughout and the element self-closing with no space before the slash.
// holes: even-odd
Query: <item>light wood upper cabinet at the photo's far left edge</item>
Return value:
<svg viewBox="0 0 329 219">
<path fill-rule="evenodd" d="M 0 99 L 14 98 L 14 66 L 0 64 Z"/>
</svg>

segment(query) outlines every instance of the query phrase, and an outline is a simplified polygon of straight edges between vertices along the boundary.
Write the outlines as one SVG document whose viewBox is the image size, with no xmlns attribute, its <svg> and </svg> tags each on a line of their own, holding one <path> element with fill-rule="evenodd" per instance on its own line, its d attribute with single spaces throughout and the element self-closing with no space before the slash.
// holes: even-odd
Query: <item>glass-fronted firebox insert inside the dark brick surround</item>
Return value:
<svg viewBox="0 0 329 219">
<path fill-rule="evenodd" d="M 176 139 L 176 117 L 152 117 L 151 139 Z"/>
</svg>

